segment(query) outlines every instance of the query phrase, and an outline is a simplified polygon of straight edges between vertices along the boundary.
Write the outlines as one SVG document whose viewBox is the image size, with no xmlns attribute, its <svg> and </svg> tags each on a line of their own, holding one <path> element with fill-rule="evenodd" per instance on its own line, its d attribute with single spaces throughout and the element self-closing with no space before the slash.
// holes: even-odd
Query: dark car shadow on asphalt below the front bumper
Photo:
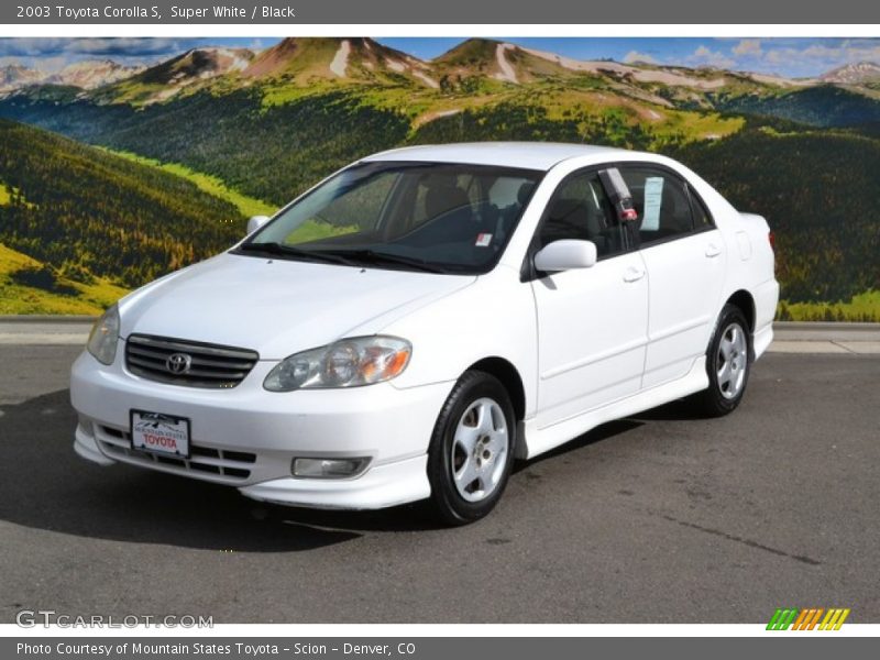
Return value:
<svg viewBox="0 0 880 660">
<path fill-rule="evenodd" d="M 0 520 L 90 538 L 238 552 L 312 550 L 360 538 L 358 527 L 435 526 L 424 507 L 300 512 L 248 499 L 229 486 L 91 464 L 74 452 L 76 414 L 68 402 L 64 389 L 0 407 Z M 355 522 L 354 516 L 362 519 Z"/>
</svg>

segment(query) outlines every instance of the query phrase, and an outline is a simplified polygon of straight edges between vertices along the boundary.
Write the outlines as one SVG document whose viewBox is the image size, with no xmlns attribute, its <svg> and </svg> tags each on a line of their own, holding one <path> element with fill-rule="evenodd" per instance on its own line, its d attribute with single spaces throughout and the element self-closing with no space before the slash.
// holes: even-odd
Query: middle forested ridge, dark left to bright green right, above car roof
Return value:
<svg viewBox="0 0 880 660">
<path fill-rule="evenodd" d="M 134 110 L 16 98 L 0 116 L 163 163 L 180 163 L 242 193 L 285 204 L 351 161 L 408 143 L 560 140 L 662 150 L 737 131 L 741 118 L 603 99 L 592 89 L 539 84 L 485 97 L 349 87 L 264 105 L 257 89 L 207 91 Z"/>
</svg>

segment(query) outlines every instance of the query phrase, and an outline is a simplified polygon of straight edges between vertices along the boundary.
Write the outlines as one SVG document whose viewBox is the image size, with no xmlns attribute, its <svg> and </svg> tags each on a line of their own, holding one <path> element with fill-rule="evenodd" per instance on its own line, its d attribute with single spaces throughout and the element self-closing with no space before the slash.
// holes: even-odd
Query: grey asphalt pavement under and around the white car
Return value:
<svg viewBox="0 0 880 660">
<path fill-rule="evenodd" d="M 341 514 L 70 448 L 72 346 L 0 346 L 0 623 L 880 622 L 880 358 L 770 355 L 721 420 L 675 404 L 521 465 L 484 521 Z"/>
</svg>

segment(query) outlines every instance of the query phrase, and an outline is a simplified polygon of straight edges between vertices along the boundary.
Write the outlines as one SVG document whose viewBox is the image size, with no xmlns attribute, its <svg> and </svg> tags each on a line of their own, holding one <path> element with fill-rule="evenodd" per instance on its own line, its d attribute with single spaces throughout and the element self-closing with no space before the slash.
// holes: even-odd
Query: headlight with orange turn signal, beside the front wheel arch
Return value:
<svg viewBox="0 0 880 660">
<path fill-rule="evenodd" d="M 358 387 L 391 381 L 409 363 L 413 345 L 396 337 L 343 339 L 282 360 L 263 382 L 270 392 Z"/>
</svg>

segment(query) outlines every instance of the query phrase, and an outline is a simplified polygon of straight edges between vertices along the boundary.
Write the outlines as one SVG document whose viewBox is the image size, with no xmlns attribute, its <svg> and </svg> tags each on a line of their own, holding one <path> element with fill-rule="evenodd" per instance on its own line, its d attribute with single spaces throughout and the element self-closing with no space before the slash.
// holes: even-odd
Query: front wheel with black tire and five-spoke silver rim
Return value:
<svg viewBox="0 0 880 660">
<path fill-rule="evenodd" d="M 466 525 L 495 507 L 515 447 L 516 416 L 507 389 L 490 374 L 465 372 L 443 404 L 428 450 L 431 503 L 443 522 Z"/>
</svg>

